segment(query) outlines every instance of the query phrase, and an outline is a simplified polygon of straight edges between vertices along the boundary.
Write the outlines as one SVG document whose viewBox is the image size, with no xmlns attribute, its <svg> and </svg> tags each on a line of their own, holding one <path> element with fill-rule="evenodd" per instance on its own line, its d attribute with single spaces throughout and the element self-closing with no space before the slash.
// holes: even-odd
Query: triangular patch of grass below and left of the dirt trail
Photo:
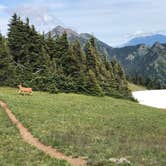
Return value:
<svg viewBox="0 0 166 166">
<path fill-rule="evenodd" d="M 52 159 L 32 146 L 24 143 L 18 130 L 13 127 L 0 108 L 0 165 L 2 166 L 67 166 L 64 161 Z"/>
</svg>

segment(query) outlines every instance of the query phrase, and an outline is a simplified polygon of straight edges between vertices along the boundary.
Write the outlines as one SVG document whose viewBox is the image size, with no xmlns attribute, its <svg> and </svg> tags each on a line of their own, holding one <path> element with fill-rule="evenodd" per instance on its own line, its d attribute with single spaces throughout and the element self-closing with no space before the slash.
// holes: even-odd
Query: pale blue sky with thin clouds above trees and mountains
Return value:
<svg viewBox="0 0 166 166">
<path fill-rule="evenodd" d="M 166 34 L 165 0 L 0 0 L 0 30 L 14 12 L 39 31 L 57 25 L 94 34 L 111 46 L 147 34 Z"/>
</svg>

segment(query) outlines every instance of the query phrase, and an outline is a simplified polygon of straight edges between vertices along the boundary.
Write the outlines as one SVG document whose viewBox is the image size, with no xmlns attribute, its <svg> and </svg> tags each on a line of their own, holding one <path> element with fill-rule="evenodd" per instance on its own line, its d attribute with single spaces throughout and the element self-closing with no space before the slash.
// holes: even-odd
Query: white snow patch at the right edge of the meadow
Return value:
<svg viewBox="0 0 166 166">
<path fill-rule="evenodd" d="M 132 95 L 142 105 L 166 109 L 166 90 L 136 91 Z"/>
</svg>

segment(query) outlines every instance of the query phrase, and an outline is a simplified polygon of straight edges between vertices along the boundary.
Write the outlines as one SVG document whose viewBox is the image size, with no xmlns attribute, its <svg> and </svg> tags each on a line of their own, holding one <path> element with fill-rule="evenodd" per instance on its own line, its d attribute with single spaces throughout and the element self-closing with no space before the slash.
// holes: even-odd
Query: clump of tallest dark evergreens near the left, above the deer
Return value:
<svg viewBox="0 0 166 166">
<path fill-rule="evenodd" d="M 30 82 L 49 73 L 50 57 L 46 51 L 46 43 L 29 19 L 24 23 L 14 14 L 9 24 L 8 46 L 16 64 L 18 83 L 29 85 Z"/>
</svg>

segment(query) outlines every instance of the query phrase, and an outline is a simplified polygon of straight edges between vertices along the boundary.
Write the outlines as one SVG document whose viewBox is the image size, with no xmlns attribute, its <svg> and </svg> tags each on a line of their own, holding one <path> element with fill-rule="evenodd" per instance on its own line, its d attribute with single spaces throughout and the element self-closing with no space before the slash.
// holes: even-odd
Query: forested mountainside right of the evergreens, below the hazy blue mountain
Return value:
<svg viewBox="0 0 166 166">
<path fill-rule="evenodd" d="M 166 88 L 166 44 L 156 42 L 153 46 L 144 44 L 114 48 L 110 59 L 115 57 L 126 73 L 150 88 Z"/>
</svg>

